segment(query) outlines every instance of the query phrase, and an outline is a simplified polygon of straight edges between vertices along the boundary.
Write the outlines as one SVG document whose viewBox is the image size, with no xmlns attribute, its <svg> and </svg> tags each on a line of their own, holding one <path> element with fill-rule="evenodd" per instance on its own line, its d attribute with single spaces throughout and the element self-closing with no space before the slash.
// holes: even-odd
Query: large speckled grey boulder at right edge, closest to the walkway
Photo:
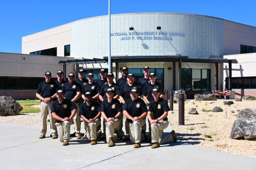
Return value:
<svg viewBox="0 0 256 170">
<path fill-rule="evenodd" d="M 231 127 L 232 139 L 256 139 L 256 119 L 237 119 Z"/>
</svg>

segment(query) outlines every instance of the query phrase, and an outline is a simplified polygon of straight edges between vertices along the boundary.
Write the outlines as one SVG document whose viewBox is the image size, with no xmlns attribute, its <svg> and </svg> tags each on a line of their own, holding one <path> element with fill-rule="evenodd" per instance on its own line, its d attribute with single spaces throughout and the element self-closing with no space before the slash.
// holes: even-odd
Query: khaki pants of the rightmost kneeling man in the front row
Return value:
<svg viewBox="0 0 256 170">
<path fill-rule="evenodd" d="M 173 142 L 173 137 L 171 133 L 168 133 L 163 136 L 163 129 L 167 128 L 169 125 L 168 120 L 160 120 L 157 122 L 157 126 L 151 125 L 152 129 L 152 143 L 159 142 L 159 144 L 164 144 L 168 142 Z M 172 125 L 171 126 L 171 132 L 173 131 Z"/>
</svg>

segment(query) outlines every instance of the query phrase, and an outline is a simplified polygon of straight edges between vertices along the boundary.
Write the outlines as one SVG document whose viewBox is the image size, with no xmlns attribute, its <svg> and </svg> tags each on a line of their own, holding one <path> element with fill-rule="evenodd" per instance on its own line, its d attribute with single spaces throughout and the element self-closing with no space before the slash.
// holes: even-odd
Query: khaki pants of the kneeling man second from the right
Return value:
<svg viewBox="0 0 256 170">
<path fill-rule="evenodd" d="M 134 121 L 129 124 L 130 138 L 132 143 L 141 142 L 141 127 L 146 123 L 146 118 L 140 121 Z"/>
</svg>

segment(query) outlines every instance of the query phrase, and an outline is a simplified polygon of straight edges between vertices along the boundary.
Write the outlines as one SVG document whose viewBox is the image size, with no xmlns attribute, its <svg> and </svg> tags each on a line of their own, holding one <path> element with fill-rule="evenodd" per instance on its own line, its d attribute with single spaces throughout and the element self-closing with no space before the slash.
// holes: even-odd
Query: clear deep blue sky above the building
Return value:
<svg viewBox="0 0 256 170">
<path fill-rule="evenodd" d="M 111 0 L 111 14 L 208 15 L 256 27 L 255 0 Z M 21 53 L 21 38 L 76 20 L 108 15 L 108 0 L 0 0 L 0 52 Z"/>
</svg>

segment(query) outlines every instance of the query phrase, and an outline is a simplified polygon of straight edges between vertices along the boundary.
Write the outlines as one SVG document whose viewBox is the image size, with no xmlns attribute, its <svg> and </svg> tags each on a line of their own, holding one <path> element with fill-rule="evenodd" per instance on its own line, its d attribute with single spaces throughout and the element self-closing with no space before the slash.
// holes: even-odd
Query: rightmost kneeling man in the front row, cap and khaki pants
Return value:
<svg viewBox="0 0 256 170">
<path fill-rule="evenodd" d="M 177 136 L 173 131 L 171 125 L 171 133 L 163 135 L 163 129 L 169 125 L 167 116 L 170 110 L 168 102 L 165 99 L 159 98 L 159 88 L 152 89 L 152 95 L 154 100 L 150 101 L 148 108 L 148 120 L 150 121 L 152 129 L 152 143 L 151 148 L 158 148 L 160 144 L 164 144 L 170 141 L 177 142 Z M 154 118 L 151 117 L 151 113 L 154 113 Z"/>
</svg>

